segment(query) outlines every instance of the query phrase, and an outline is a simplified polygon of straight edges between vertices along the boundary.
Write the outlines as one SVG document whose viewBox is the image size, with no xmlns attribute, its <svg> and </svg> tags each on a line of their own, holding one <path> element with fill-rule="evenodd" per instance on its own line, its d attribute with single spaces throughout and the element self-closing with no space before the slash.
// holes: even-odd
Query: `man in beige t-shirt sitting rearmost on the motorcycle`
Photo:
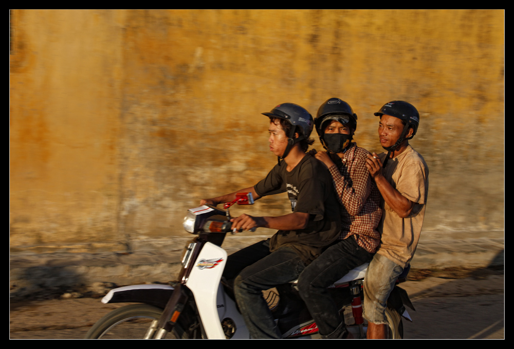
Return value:
<svg viewBox="0 0 514 349">
<path fill-rule="evenodd" d="M 404 101 L 384 104 L 378 136 L 388 153 L 368 156 L 366 167 L 382 195 L 380 245 L 364 278 L 364 318 L 368 338 L 387 337 L 384 311 L 398 275 L 406 268 L 419 241 L 428 195 L 428 166 L 409 145 L 419 125 L 416 108 Z"/>
</svg>

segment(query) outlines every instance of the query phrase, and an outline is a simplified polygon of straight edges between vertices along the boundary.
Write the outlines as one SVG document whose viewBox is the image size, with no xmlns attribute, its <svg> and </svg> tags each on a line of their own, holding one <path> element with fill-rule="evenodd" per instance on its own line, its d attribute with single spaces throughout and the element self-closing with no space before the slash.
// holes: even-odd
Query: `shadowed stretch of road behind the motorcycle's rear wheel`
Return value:
<svg viewBox="0 0 514 349">
<path fill-rule="evenodd" d="M 428 287 L 425 287 L 428 286 Z M 405 339 L 504 339 L 503 275 L 410 282 L 416 311 L 403 321 Z"/>
</svg>

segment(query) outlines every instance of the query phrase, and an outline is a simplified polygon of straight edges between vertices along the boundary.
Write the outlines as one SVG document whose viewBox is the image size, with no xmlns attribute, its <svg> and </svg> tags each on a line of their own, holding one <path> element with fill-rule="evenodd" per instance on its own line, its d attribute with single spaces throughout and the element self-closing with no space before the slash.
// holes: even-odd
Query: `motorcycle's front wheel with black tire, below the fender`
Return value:
<svg viewBox="0 0 514 349">
<path fill-rule="evenodd" d="M 162 309 L 148 304 L 130 304 L 111 311 L 89 329 L 86 339 L 143 339 L 152 321 L 159 320 Z M 187 339 L 177 323 L 167 339 Z"/>
</svg>

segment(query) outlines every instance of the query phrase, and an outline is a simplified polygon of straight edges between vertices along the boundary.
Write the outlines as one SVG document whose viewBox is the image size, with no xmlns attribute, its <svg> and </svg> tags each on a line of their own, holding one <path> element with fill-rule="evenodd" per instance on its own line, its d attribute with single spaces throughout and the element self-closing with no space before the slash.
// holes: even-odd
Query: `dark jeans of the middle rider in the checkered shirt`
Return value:
<svg viewBox="0 0 514 349">
<path fill-rule="evenodd" d="M 364 250 L 350 236 L 327 248 L 300 274 L 300 296 L 323 338 L 341 338 L 346 332 L 344 318 L 339 315 L 339 309 L 326 288 L 372 257 L 373 253 Z"/>
</svg>

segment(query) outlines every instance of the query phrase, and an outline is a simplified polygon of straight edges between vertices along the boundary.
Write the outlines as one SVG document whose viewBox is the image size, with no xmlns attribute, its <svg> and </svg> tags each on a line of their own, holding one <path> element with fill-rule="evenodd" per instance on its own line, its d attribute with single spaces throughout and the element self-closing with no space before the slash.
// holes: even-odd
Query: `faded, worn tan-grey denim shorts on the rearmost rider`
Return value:
<svg viewBox="0 0 514 349">
<path fill-rule="evenodd" d="M 381 254 L 375 254 L 364 277 L 364 319 L 387 324 L 387 300 L 403 267 Z"/>
</svg>

